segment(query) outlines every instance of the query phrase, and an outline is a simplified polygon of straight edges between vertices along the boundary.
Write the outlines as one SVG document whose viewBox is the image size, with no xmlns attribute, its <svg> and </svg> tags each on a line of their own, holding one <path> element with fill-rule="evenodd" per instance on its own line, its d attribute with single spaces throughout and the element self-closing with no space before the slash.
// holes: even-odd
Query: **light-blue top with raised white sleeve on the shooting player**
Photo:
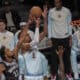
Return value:
<svg viewBox="0 0 80 80">
<path fill-rule="evenodd" d="M 47 60 L 44 55 L 38 51 L 39 29 L 36 28 L 34 40 L 30 43 L 31 51 L 18 55 L 19 71 L 24 74 L 25 80 L 43 80 L 47 73 Z M 35 54 L 35 58 L 33 58 Z"/>
</svg>

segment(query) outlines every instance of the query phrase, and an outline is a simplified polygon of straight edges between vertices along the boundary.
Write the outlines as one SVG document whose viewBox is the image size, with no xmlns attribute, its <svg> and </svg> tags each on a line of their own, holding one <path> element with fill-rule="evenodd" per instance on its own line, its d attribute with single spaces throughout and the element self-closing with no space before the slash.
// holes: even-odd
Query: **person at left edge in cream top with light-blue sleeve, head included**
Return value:
<svg viewBox="0 0 80 80">
<path fill-rule="evenodd" d="M 6 20 L 0 18 L 0 48 L 6 46 L 10 50 L 14 49 L 14 35 L 6 30 Z"/>
</svg>

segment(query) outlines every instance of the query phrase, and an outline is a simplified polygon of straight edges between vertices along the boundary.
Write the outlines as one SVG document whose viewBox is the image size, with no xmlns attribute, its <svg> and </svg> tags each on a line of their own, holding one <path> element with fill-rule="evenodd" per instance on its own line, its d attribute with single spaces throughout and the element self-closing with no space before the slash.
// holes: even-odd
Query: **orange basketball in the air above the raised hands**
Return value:
<svg viewBox="0 0 80 80">
<path fill-rule="evenodd" d="M 42 9 L 39 6 L 34 6 L 31 8 L 30 14 L 35 17 L 40 17 L 42 15 Z"/>
</svg>

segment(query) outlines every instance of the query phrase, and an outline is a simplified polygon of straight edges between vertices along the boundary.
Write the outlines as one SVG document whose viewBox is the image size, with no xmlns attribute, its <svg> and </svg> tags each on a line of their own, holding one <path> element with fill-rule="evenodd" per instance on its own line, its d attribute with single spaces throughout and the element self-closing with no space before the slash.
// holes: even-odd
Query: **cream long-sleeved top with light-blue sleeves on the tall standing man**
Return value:
<svg viewBox="0 0 80 80">
<path fill-rule="evenodd" d="M 61 10 L 52 8 L 48 15 L 48 37 L 66 38 L 71 35 L 71 13 L 69 9 L 62 7 Z"/>
</svg>

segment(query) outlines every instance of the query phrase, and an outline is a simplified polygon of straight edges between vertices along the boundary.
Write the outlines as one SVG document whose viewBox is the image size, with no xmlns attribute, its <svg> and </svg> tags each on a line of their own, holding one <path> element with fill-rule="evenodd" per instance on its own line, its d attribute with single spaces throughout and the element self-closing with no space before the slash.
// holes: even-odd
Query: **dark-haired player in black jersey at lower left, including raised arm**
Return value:
<svg viewBox="0 0 80 80">
<path fill-rule="evenodd" d="M 18 80 L 19 69 L 16 56 L 24 41 L 23 37 L 12 51 L 5 46 L 0 48 L 0 56 L 2 59 L 0 62 L 0 80 Z"/>
</svg>

